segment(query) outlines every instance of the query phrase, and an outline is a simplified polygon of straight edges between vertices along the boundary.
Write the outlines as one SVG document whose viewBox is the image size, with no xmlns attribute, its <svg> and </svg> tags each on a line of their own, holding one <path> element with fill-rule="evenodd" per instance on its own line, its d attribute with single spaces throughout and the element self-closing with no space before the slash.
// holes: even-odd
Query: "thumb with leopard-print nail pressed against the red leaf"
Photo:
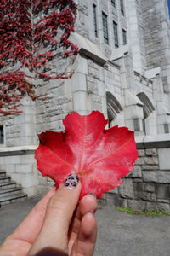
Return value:
<svg viewBox="0 0 170 256">
<path fill-rule="evenodd" d="M 35 255 L 47 247 L 68 252 L 68 230 L 80 191 L 79 178 L 70 174 L 48 201 L 42 229 L 28 255 Z"/>
</svg>

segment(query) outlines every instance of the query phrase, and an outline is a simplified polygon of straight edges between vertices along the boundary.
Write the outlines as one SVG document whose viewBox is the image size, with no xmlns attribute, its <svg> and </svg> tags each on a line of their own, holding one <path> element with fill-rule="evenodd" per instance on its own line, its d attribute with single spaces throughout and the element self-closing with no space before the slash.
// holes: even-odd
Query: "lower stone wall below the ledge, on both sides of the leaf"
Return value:
<svg viewBox="0 0 170 256">
<path fill-rule="evenodd" d="M 143 141 L 143 142 L 142 142 Z M 170 137 L 150 137 L 137 143 L 139 158 L 133 172 L 123 179 L 119 188 L 109 191 L 103 201 L 135 210 L 162 210 L 170 212 Z M 34 150 L 37 147 L 1 149 L 0 169 L 22 185 L 29 197 L 43 195 L 54 182 L 37 171 Z"/>
</svg>

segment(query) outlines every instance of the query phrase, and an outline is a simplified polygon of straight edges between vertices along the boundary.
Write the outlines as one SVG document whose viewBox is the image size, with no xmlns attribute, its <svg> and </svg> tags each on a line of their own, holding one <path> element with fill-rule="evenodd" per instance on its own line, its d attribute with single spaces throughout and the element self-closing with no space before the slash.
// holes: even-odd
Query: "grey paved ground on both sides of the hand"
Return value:
<svg viewBox="0 0 170 256">
<path fill-rule="evenodd" d="M 0 243 L 30 212 L 38 199 L 0 208 Z M 101 207 L 94 256 L 170 256 L 170 217 L 144 217 Z"/>
</svg>

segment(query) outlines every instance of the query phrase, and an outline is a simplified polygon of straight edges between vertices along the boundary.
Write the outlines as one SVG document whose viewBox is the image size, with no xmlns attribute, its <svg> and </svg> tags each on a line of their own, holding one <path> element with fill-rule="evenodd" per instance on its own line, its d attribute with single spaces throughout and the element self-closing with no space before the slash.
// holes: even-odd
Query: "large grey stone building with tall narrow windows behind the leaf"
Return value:
<svg viewBox="0 0 170 256">
<path fill-rule="evenodd" d="M 66 113 L 99 110 L 135 131 L 139 160 L 105 200 L 170 211 L 170 23 L 167 0 L 78 0 L 80 48 L 65 81 L 37 81 L 45 102 L 23 100 L 23 113 L 0 117 L 0 165 L 29 196 L 51 181 L 35 167 L 37 133 L 62 131 Z M 40 85 L 41 84 L 41 85 Z"/>
</svg>

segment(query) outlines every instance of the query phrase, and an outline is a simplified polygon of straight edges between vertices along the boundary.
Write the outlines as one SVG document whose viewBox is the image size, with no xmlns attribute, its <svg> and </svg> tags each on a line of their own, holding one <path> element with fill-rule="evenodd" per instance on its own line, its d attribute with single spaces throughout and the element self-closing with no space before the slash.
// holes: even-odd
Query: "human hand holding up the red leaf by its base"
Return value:
<svg viewBox="0 0 170 256">
<path fill-rule="evenodd" d="M 67 184 L 66 184 L 67 183 Z M 94 195 L 76 187 L 51 189 L 0 247 L 0 256 L 92 256 L 97 234 Z"/>
</svg>

